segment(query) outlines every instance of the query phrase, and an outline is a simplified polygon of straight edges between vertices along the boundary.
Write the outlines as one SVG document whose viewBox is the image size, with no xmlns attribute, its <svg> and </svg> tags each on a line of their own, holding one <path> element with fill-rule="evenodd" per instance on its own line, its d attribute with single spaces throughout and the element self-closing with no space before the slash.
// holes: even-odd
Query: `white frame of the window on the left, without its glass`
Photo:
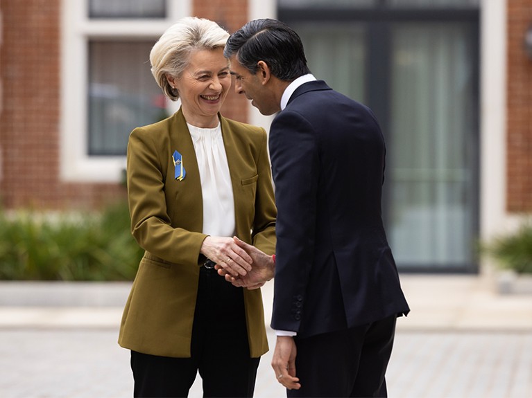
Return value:
<svg viewBox="0 0 532 398">
<path fill-rule="evenodd" d="M 88 0 L 62 0 L 60 64 L 60 178 L 69 182 L 120 182 L 126 156 L 88 154 L 88 44 L 90 39 L 157 39 L 190 15 L 192 0 L 167 0 L 164 19 L 89 19 Z"/>
</svg>

